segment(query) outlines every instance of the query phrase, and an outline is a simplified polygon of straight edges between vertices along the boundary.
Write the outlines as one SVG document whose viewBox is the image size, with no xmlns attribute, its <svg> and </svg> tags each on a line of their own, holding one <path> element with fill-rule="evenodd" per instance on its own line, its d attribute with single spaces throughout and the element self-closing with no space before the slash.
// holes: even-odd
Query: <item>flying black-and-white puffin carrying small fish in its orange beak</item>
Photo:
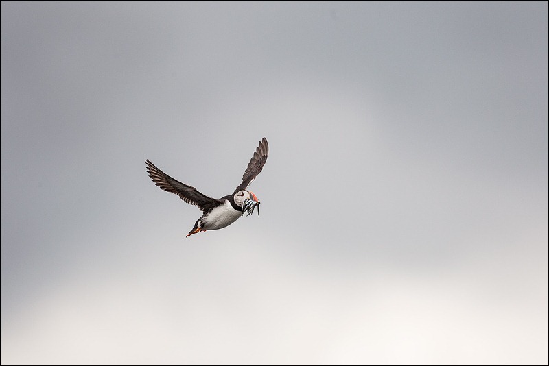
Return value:
<svg viewBox="0 0 549 366">
<path fill-rule="evenodd" d="M 196 220 L 192 230 L 185 236 L 187 238 L 197 232 L 226 228 L 237 221 L 244 213 L 252 214 L 256 207 L 257 215 L 259 215 L 259 199 L 252 191 L 248 191 L 248 186 L 263 169 L 268 153 L 269 144 L 267 139 L 263 138 L 259 141 L 259 145 L 242 175 L 242 183 L 235 188 L 231 195 L 226 195 L 220 199 L 209 197 L 200 193 L 193 186 L 179 182 L 161 171 L 148 159 L 145 160 L 145 167 L 156 186 L 164 191 L 175 193 L 187 204 L 198 206 L 202 211 L 202 216 Z"/>
</svg>

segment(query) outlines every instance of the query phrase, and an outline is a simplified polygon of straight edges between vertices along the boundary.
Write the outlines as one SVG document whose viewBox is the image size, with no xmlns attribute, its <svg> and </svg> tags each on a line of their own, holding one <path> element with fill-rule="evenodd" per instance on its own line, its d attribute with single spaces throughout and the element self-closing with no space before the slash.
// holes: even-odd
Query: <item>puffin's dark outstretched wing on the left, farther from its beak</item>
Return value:
<svg viewBox="0 0 549 366">
<path fill-rule="evenodd" d="M 195 205 L 203 212 L 208 212 L 215 206 L 223 204 L 219 199 L 208 197 L 198 191 L 196 188 L 187 186 L 187 184 L 181 183 L 178 180 L 170 177 L 160 169 L 158 169 L 152 162 L 147 160 L 145 162 L 147 167 L 147 173 L 149 173 L 152 182 L 159 186 L 164 191 L 172 192 L 181 197 L 187 204 Z"/>
</svg>

